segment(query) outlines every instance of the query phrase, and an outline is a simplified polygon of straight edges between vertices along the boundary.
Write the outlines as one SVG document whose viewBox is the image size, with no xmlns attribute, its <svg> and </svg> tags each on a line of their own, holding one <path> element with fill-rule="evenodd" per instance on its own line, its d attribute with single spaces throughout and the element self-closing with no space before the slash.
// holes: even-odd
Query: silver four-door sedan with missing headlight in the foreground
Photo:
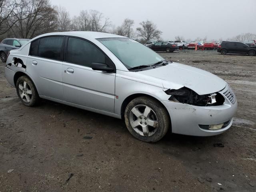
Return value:
<svg viewBox="0 0 256 192">
<path fill-rule="evenodd" d="M 237 109 L 233 90 L 218 76 L 108 33 L 40 35 L 10 51 L 5 74 L 26 106 L 44 98 L 124 119 L 144 142 L 156 142 L 168 130 L 223 133 Z"/>
</svg>

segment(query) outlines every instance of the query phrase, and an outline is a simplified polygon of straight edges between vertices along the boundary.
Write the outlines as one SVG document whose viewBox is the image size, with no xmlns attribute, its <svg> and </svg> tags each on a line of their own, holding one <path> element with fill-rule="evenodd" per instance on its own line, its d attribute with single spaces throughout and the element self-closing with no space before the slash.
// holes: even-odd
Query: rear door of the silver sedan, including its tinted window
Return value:
<svg viewBox="0 0 256 192">
<path fill-rule="evenodd" d="M 30 74 L 38 94 L 63 100 L 62 62 L 64 36 L 47 36 L 30 44 L 26 72 Z"/>
</svg>

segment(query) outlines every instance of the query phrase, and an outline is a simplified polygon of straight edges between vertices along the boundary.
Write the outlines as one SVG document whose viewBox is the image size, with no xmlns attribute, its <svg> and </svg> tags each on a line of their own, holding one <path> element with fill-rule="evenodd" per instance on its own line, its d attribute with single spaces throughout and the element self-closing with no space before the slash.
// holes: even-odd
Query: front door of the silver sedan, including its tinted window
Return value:
<svg viewBox="0 0 256 192">
<path fill-rule="evenodd" d="M 90 65 L 94 62 L 113 65 L 94 44 L 80 38 L 68 38 L 62 65 L 64 100 L 114 112 L 116 74 L 92 70 Z"/>
</svg>

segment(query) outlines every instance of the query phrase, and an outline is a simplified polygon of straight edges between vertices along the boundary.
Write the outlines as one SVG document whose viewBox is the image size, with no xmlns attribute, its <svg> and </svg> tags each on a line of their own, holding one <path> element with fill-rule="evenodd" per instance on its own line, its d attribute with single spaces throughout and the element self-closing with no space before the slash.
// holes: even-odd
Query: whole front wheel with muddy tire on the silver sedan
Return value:
<svg viewBox="0 0 256 192">
<path fill-rule="evenodd" d="M 166 108 L 146 96 L 135 98 L 126 106 L 124 120 L 129 132 L 144 142 L 157 142 L 170 127 Z"/>
</svg>

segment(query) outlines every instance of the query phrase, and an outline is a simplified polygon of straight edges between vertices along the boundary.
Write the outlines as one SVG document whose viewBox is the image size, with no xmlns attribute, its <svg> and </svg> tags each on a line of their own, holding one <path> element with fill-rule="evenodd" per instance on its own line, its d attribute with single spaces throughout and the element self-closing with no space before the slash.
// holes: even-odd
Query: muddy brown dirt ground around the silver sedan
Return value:
<svg viewBox="0 0 256 192">
<path fill-rule="evenodd" d="M 0 63 L 0 192 L 256 191 L 256 56 L 160 54 L 231 85 L 238 111 L 228 131 L 140 142 L 122 120 L 47 100 L 25 107 Z"/>
</svg>

